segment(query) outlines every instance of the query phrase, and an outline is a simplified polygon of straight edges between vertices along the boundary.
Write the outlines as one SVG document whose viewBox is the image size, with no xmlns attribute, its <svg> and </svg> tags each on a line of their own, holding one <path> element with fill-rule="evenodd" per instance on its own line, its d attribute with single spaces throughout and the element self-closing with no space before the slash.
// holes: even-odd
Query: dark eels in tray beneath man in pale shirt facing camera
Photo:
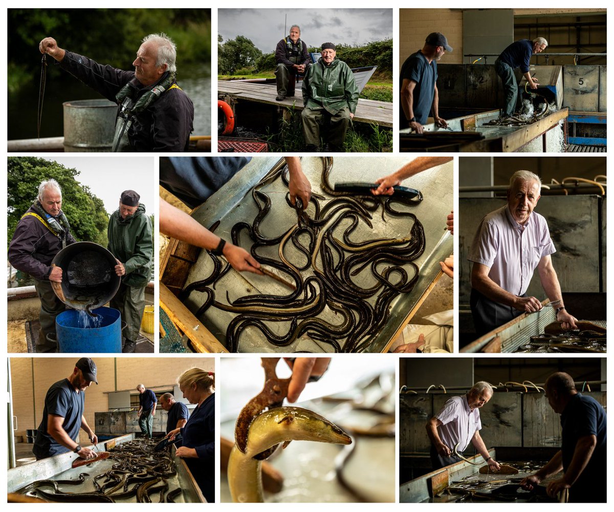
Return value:
<svg viewBox="0 0 614 512">
<path fill-rule="evenodd" d="M 531 336 L 530 342 L 518 347 L 516 352 L 606 352 L 607 330 L 595 323 L 577 321 L 578 329 L 565 330 L 561 322 L 552 322 L 543 334 Z"/>
</svg>

